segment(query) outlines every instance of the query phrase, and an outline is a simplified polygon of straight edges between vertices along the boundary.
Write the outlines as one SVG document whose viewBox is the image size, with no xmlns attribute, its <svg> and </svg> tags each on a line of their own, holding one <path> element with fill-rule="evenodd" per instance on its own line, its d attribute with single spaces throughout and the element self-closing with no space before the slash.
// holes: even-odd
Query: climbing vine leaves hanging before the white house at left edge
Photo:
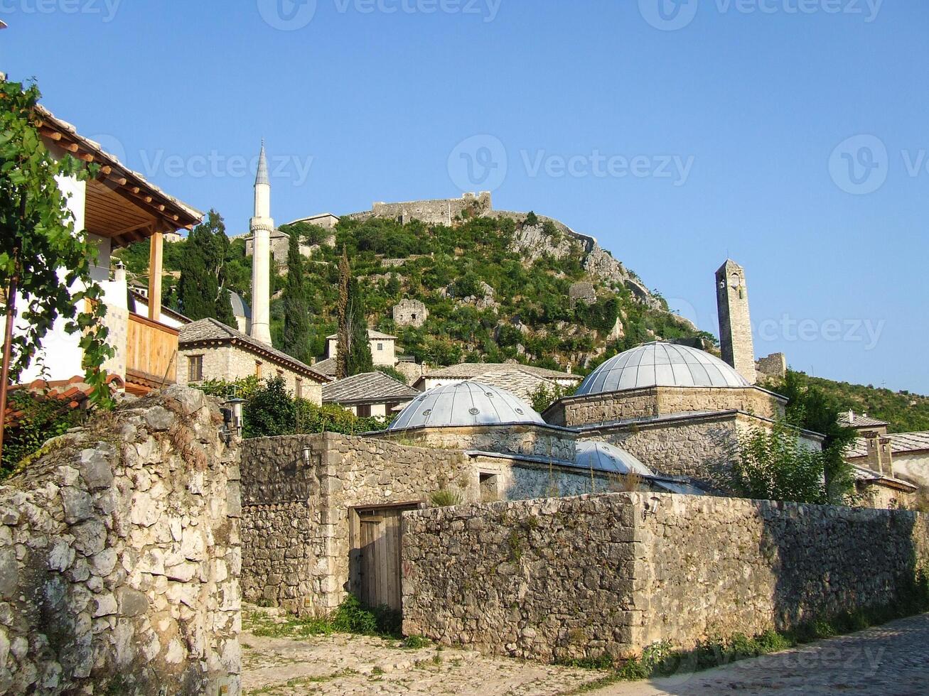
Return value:
<svg viewBox="0 0 929 696">
<path fill-rule="evenodd" d="M 56 319 L 65 330 L 79 334 L 85 380 L 94 387 L 92 400 L 110 406 L 111 393 L 101 367 L 113 354 L 103 324 L 103 290 L 91 277 L 96 245 L 85 230 L 74 229 L 56 177 L 85 180 L 98 172 L 70 155 L 56 161 L 38 132 L 35 107 L 40 97 L 34 84 L 0 82 L 0 289 L 7 297 L 11 284 L 20 293 L 20 327 L 12 337 L 10 380 L 29 367 Z M 81 311 L 79 311 L 79 309 Z"/>
</svg>

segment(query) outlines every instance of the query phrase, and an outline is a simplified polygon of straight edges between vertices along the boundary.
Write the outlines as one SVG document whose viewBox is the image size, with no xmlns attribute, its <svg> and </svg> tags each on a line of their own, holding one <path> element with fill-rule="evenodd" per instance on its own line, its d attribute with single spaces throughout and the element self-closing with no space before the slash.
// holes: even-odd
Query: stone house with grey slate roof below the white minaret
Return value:
<svg viewBox="0 0 929 696">
<path fill-rule="evenodd" d="M 212 318 L 180 329 L 177 362 L 180 384 L 240 380 L 252 375 L 260 379 L 282 377 L 297 398 L 317 406 L 322 404 L 322 385 L 332 381 L 290 355 Z"/>
</svg>

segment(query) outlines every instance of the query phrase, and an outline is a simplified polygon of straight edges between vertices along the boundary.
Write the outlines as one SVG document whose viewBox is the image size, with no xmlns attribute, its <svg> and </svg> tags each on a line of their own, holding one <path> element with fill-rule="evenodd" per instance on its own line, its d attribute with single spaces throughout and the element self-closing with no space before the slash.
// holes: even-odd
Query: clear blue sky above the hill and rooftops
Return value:
<svg viewBox="0 0 929 696">
<path fill-rule="evenodd" d="M 2 0 L 0 19 L 0 70 L 230 233 L 262 137 L 279 224 L 492 187 L 701 329 L 730 256 L 757 354 L 929 393 L 925 3 Z"/>
</svg>

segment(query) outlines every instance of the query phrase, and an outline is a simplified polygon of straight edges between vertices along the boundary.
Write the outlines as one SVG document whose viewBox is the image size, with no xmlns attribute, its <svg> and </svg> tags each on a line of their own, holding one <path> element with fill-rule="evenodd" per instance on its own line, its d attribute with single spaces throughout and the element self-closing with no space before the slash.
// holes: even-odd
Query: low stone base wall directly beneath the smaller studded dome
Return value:
<svg viewBox="0 0 929 696">
<path fill-rule="evenodd" d="M 574 461 L 575 432 L 537 425 L 479 425 L 446 428 L 416 428 L 392 434 L 385 439 L 421 442 L 439 449 L 478 450 Z"/>
</svg>

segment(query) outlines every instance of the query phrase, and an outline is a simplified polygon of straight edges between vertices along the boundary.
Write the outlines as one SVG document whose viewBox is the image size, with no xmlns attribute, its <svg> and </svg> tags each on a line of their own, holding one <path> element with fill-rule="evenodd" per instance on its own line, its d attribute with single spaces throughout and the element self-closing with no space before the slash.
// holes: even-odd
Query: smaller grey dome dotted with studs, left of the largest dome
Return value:
<svg viewBox="0 0 929 696">
<path fill-rule="evenodd" d="M 388 430 L 500 423 L 545 425 L 532 406 L 512 393 L 479 381 L 460 381 L 417 396 L 400 411 Z"/>
</svg>

